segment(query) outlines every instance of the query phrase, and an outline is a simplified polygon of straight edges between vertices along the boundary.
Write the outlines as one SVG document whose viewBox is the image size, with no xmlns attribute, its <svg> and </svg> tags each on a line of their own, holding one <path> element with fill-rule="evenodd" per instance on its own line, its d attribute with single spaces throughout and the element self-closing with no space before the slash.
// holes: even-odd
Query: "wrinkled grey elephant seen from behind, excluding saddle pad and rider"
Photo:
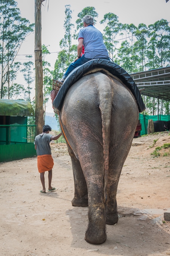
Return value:
<svg viewBox="0 0 170 256">
<path fill-rule="evenodd" d="M 116 192 L 138 123 L 138 107 L 127 88 L 96 72 L 68 90 L 60 120 L 71 156 L 73 206 L 88 206 L 88 243 L 106 240 L 105 224 L 118 221 Z"/>
</svg>

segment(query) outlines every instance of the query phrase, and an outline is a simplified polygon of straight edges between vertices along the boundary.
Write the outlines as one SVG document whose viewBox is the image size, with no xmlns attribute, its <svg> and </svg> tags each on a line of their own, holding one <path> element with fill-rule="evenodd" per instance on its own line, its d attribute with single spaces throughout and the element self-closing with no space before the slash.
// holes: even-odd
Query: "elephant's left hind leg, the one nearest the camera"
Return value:
<svg viewBox="0 0 170 256">
<path fill-rule="evenodd" d="M 96 145 L 91 145 L 90 155 L 83 154 L 80 160 L 88 187 L 88 228 L 85 240 L 92 244 L 101 244 L 106 240 L 105 205 L 104 205 L 104 161 L 103 152 L 96 152 Z M 96 160 L 94 162 L 94 159 Z"/>
</svg>

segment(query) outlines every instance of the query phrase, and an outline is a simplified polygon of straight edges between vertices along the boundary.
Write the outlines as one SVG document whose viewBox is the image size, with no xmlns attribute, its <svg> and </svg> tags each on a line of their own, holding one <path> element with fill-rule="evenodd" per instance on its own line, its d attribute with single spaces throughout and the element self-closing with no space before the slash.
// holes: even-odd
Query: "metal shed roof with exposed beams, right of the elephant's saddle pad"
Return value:
<svg viewBox="0 0 170 256">
<path fill-rule="evenodd" d="M 141 90 L 141 94 L 170 101 L 170 66 L 142 71 L 130 76 Z"/>
</svg>

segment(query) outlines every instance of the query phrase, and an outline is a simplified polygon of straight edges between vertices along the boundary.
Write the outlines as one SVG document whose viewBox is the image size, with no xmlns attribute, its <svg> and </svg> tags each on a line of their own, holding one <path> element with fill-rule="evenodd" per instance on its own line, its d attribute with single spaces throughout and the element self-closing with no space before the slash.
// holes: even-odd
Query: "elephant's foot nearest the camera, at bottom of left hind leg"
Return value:
<svg viewBox="0 0 170 256">
<path fill-rule="evenodd" d="M 89 223 L 89 227 L 85 233 L 86 242 L 100 245 L 105 242 L 106 238 L 105 226 L 101 227 Z"/>
</svg>

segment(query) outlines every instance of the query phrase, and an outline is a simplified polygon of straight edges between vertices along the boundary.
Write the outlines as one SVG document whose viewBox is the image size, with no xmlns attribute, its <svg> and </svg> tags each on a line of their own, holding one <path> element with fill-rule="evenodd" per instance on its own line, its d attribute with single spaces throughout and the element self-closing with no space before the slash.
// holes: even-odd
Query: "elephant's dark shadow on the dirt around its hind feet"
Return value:
<svg viewBox="0 0 170 256">
<path fill-rule="evenodd" d="M 68 210 L 66 214 L 70 217 L 72 247 L 86 247 L 91 252 L 104 255 L 170 255 L 170 232 L 166 223 L 160 225 L 151 216 L 139 220 L 141 215 L 133 215 L 137 209 L 118 206 L 118 210 L 119 221 L 116 225 L 106 225 L 107 240 L 102 245 L 92 245 L 84 240 L 88 225 L 88 207 Z M 93 255 L 97 255 L 96 253 Z"/>
</svg>

